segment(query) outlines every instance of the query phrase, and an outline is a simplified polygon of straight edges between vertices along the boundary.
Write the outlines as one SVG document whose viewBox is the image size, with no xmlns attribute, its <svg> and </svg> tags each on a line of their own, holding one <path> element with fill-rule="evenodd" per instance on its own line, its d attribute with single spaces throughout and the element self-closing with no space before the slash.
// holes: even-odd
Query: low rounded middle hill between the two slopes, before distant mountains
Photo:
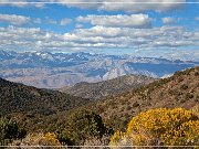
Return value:
<svg viewBox="0 0 199 149">
<path fill-rule="evenodd" d="M 60 91 L 70 95 L 96 100 L 125 93 L 132 88 L 149 84 L 154 81 L 155 78 L 143 75 L 125 75 L 100 83 L 82 82 L 71 87 L 63 87 Z"/>
</svg>

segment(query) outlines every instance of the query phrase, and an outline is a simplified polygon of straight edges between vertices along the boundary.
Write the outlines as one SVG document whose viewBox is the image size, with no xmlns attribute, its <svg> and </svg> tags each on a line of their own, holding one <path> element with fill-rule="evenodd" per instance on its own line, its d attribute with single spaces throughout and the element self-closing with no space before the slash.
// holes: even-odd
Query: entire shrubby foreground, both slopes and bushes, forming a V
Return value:
<svg viewBox="0 0 199 149">
<path fill-rule="evenodd" d="M 198 76 L 199 67 L 176 72 L 93 103 L 1 79 L 1 115 L 9 115 L 1 118 L 0 143 L 198 146 Z"/>
</svg>

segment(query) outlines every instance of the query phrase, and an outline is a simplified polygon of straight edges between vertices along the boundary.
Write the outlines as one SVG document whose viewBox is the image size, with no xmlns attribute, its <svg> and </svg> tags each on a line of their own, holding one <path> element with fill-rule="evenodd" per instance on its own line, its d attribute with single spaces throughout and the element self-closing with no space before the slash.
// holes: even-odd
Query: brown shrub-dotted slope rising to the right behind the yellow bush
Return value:
<svg viewBox="0 0 199 149">
<path fill-rule="evenodd" d="M 90 105 L 109 126 L 125 129 L 129 119 L 140 111 L 158 107 L 184 107 L 190 109 L 199 105 L 199 66 L 174 76 L 156 81 L 137 89 L 109 97 Z"/>
</svg>

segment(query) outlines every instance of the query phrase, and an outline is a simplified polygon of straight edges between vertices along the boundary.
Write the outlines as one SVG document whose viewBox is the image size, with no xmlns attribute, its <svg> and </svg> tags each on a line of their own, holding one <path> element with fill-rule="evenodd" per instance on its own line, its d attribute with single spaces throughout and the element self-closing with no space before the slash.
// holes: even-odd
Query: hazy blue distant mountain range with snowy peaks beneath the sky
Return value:
<svg viewBox="0 0 199 149">
<path fill-rule="evenodd" d="M 166 77 L 199 62 L 103 55 L 91 53 L 0 51 L 0 77 L 40 88 L 61 88 L 80 82 L 96 83 L 123 75 Z"/>
</svg>

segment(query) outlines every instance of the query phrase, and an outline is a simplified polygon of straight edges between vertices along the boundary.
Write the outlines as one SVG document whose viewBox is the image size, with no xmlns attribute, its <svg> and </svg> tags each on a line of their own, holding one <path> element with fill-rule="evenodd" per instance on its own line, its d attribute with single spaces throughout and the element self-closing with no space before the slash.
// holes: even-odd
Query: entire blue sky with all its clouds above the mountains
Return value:
<svg viewBox="0 0 199 149">
<path fill-rule="evenodd" d="M 199 61 L 199 3 L 0 2 L 0 50 L 84 51 Z"/>
</svg>

